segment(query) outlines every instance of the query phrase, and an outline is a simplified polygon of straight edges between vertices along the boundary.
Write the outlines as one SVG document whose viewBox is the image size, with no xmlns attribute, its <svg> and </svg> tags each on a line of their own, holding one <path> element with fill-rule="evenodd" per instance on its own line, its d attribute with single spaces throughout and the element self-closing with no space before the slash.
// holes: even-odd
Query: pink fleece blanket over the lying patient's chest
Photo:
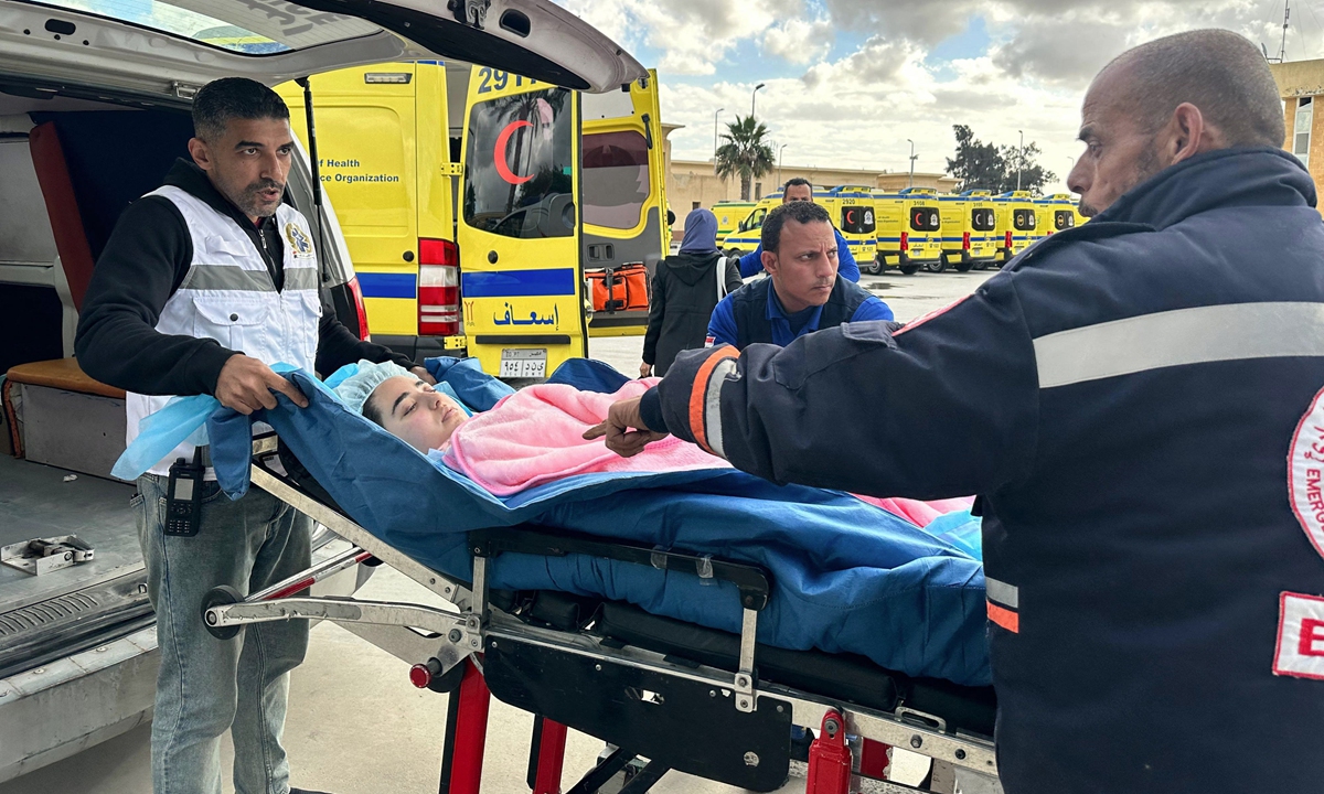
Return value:
<svg viewBox="0 0 1324 794">
<path fill-rule="evenodd" d="M 496 496 L 510 496 L 573 474 L 730 468 L 722 458 L 673 435 L 621 458 L 584 431 L 606 418 L 617 400 L 647 392 L 659 378 L 636 380 L 614 394 L 540 384 L 504 397 L 490 412 L 455 430 L 444 461 Z"/>
</svg>

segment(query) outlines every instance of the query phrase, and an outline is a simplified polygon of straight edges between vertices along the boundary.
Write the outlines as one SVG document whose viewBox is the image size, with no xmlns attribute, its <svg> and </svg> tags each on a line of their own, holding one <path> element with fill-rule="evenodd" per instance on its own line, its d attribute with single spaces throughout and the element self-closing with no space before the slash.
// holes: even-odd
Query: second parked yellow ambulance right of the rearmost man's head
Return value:
<svg viewBox="0 0 1324 794">
<path fill-rule="evenodd" d="M 876 255 L 861 261 L 865 273 L 896 267 L 906 275 L 920 267 L 943 270 L 943 221 L 937 191 L 906 188 L 898 193 L 873 191 Z"/>
</svg>

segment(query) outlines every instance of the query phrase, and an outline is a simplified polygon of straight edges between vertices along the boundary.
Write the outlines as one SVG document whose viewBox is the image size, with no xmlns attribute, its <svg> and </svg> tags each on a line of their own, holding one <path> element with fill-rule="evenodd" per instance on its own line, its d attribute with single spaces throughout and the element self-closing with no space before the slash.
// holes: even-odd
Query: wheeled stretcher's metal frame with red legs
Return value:
<svg viewBox="0 0 1324 794">
<path fill-rule="evenodd" d="M 208 630 L 229 638 L 249 623 L 326 619 L 409 662 L 414 685 L 453 692 L 442 791 L 478 793 L 491 696 L 538 717 L 528 774 L 535 794 L 560 791 L 567 728 L 618 748 L 568 789 L 576 794 L 597 791 L 637 758 L 647 761 L 641 769 L 636 761 L 625 791 L 646 791 L 673 769 L 771 791 L 800 760 L 809 765 L 810 794 L 845 794 L 853 770 L 886 778 L 892 746 L 933 760 L 918 790 L 1001 791 L 990 688 L 915 679 L 861 656 L 760 644 L 756 618 L 776 585 L 757 565 L 518 525 L 470 532 L 473 581 L 459 581 L 346 517 L 274 435 L 254 441 L 250 479 L 355 548 L 246 598 L 214 589 L 201 605 Z M 507 553 L 588 554 L 731 582 L 743 610 L 740 634 L 626 603 L 490 589 L 489 565 Z M 303 594 L 359 562 L 395 568 L 446 607 Z M 859 740 L 854 752 L 849 737 Z"/>
</svg>

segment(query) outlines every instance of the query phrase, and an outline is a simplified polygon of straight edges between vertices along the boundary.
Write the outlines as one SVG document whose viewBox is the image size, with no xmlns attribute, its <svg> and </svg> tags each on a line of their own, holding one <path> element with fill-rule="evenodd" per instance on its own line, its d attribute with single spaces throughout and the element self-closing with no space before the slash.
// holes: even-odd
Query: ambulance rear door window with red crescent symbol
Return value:
<svg viewBox="0 0 1324 794">
<path fill-rule="evenodd" d="M 571 237 L 575 116 L 567 89 L 487 99 L 469 114 L 465 222 L 523 240 Z"/>
</svg>

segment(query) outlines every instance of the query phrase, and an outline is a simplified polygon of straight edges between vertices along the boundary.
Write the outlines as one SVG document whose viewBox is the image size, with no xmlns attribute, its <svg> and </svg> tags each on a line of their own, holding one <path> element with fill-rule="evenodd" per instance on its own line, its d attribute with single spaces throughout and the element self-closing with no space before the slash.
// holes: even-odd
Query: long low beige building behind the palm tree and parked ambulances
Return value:
<svg viewBox="0 0 1324 794">
<path fill-rule="evenodd" d="M 670 144 L 670 142 L 667 142 Z M 667 146 L 667 175 L 666 196 L 677 214 L 675 229 L 685 226 L 685 216 L 699 206 L 712 208 L 718 201 L 739 201 L 740 180 L 718 179 L 712 160 L 673 160 L 670 159 L 670 146 Z M 760 180 L 755 180 L 753 200 L 779 189 L 788 179 L 808 179 L 814 187 L 828 188 L 833 185 L 865 185 L 870 188 L 883 188 L 899 191 L 911 184 L 910 172 L 879 172 L 853 168 L 801 168 L 786 165 L 773 169 L 772 173 Z M 956 187 L 956 179 L 945 173 L 915 173 L 916 188 L 937 188 L 940 192 L 951 192 Z"/>
</svg>

